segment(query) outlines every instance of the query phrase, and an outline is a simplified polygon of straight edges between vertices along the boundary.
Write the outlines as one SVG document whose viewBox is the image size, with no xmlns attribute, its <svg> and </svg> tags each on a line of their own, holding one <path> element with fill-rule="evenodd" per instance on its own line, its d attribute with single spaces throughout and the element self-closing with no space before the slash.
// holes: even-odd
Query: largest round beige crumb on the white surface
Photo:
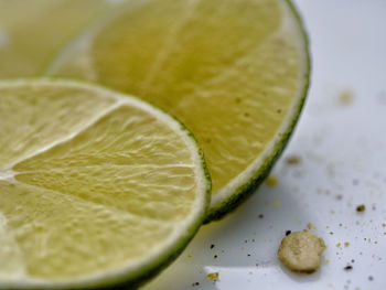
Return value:
<svg viewBox="0 0 386 290">
<path fill-rule="evenodd" d="M 292 271 L 314 272 L 320 267 L 324 240 L 308 232 L 294 232 L 280 244 L 278 257 Z"/>
</svg>

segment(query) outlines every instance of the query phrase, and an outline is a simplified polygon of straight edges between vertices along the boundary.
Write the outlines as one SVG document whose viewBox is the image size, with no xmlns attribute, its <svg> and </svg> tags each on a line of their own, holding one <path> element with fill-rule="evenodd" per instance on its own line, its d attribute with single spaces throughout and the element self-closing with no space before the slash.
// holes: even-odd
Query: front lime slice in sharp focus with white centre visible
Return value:
<svg viewBox="0 0 386 290">
<path fill-rule="evenodd" d="M 205 217 L 196 142 L 147 103 L 75 82 L 2 82 L 0 123 L 1 289 L 135 288 Z"/>
</svg>

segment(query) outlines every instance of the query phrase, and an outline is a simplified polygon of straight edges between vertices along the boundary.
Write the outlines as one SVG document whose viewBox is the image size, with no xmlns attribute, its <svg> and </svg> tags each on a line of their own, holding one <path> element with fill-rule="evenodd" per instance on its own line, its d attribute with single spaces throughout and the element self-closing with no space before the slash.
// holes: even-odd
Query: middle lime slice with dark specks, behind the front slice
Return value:
<svg viewBox="0 0 386 290">
<path fill-rule="evenodd" d="M 268 174 L 300 114 L 309 69 L 289 1 L 148 0 L 89 28 L 47 73 L 129 92 L 184 122 L 211 172 L 210 221 Z"/>
</svg>

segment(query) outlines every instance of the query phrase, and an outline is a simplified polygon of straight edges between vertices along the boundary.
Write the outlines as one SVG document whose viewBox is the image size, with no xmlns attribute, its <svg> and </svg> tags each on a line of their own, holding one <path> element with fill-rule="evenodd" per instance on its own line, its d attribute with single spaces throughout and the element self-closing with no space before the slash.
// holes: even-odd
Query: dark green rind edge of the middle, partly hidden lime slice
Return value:
<svg viewBox="0 0 386 290">
<path fill-rule="evenodd" d="M 310 75 L 311 75 L 310 42 L 303 24 L 303 20 L 300 17 L 300 13 L 298 12 L 297 8 L 291 2 L 291 0 L 285 0 L 285 1 L 288 3 L 288 7 L 292 11 L 292 14 L 300 29 L 300 34 L 303 40 L 302 46 L 304 49 L 303 52 L 305 56 L 304 57 L 305 73 L 303 75 L 304 85 L 302 88 L 301 97 L 294 110 L 296 114 L 291 118 L 291 122 L 289 123 L 288 128 L 285 130 L 285 132 L 281 133 L 281 138 L 279 139 L 279 141 L 272 148 L 271 153 L 269 153 L 268 157 L 264 160 L 262 164 L 259 165 L 259 168 L 257 169 L 253 178 L 250 178 L 247 182 L 245 182 L 242 186 L 239 186 L 233 194 L 228 196 L 228 198 L 224 200 L 218 205 L 210 208 L 204 222 L 205 224 L 213 221 L 222 219 L 225 215 L 236 210 L 242 203 L 244 203 L 248 197 L 250 197 L 250 195 L 259 187 L 259 185 L 268 176 L 270 170 L 275 165 L 275 162 L 280 158 L 286 146 L 288 144 L 292 136 L 292 132 L 298 123 L 302 108 L 304 106 L 309 87 L 310 87 Z"/>
</svg>

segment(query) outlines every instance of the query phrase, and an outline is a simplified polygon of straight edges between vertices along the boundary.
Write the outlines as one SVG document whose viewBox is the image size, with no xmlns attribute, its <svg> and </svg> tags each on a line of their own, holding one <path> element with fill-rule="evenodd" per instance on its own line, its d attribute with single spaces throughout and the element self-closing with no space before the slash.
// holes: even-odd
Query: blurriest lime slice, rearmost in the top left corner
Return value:
<svg viewBox="0 0 386 290">
<path fill-rule="evenodd" d="M 107 0 L 0 0 L 0 77 L 40 74 L 79 30 L 115 7 Z"/>
</svg>

